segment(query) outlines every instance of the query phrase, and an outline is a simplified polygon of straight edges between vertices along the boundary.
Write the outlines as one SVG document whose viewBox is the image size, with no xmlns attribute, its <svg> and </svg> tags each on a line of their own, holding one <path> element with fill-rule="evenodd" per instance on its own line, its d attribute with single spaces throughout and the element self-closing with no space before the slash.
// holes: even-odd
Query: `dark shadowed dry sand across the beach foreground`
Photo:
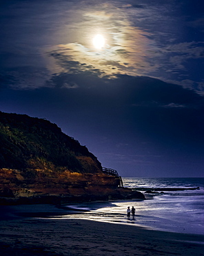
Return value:
<svg viewBox="0 0 204 256">
<path fill-rule="evenodd" d="M 203 235 L 80 219 L 0 221 L 0 255 L 204 255 Z"/>
</svg>

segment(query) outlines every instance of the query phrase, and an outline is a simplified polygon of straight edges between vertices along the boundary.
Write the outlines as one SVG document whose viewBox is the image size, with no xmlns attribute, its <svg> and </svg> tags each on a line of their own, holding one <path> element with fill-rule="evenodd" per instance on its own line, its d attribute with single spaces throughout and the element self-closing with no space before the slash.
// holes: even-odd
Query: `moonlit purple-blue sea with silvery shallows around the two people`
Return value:
<svg viewBox="0 0 204 256">
<path fill-rule="evenodd" d="M 89 219 L 204 235 L 204 178 L 123 178 L 123 185 L 143 192 L 145 199 L 72 203 L 64 205 L 67 215 L 52 218 Z M 155 188 L 198 189 L 145 193 Z M 127 219 L 128 206 L 136 209 L 134 220 Z"/>
</svg>

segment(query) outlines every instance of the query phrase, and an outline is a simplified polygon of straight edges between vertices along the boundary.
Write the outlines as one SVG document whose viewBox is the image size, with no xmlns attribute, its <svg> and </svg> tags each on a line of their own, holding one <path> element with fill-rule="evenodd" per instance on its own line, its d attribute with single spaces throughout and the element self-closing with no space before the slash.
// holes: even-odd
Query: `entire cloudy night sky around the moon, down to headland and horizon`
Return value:
<svg viewBox="0 0 204 256">
<path fill-rule="evenodd" d="M 203 176 L 203 1 L 0 5 L 1 111 L 56 123 L 121 176 Z"/>
</svg>

